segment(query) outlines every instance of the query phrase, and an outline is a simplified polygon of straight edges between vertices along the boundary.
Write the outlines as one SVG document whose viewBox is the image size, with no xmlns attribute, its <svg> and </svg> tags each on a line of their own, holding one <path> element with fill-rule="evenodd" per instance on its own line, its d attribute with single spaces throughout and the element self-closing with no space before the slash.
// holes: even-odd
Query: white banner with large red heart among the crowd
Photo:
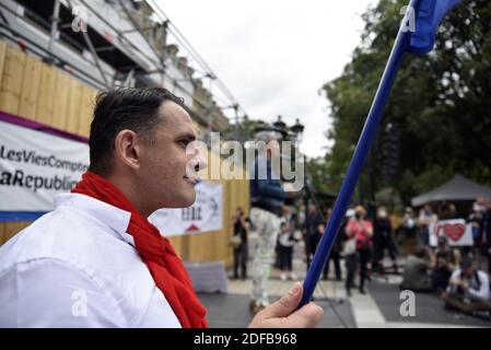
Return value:
<svg viewBox="0 0 491 350">
<path fill-rule="evenodd" d="M 464 219 L 441 220 L 430 225 L 430 245 L 436 246 L 441 235 L 448 238 L 451 246 L 472 245 L 472 225 Z"/>
</svg>

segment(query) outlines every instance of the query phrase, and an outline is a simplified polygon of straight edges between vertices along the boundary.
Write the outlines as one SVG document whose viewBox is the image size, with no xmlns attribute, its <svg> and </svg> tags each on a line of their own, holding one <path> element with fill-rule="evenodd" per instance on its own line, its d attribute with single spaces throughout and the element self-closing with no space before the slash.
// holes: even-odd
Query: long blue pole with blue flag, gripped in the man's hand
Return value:
<svg viewBox="0 0 491 350">
<path fill-rule="evenodd" d="M 445 1 L 446 3 L 443 3 Z M 354 154 L 351 159 L 350 166 L 348 167 L 346 178 L 342 182 L 341 189 L 332 209 L 332 214 L 317 246 L 317 250 L 315 253 L 311 268 L 307 271 L 307 276 L 305 277 L 305 281 L 303 284 L 303 296 L 302 301 L 299 304 L 299 308 L 311 301 L 320 272 L 323 271 L 330 250 L 332 249 L 334 243 L 338 235 L 339 226 L 341 224 L 341 220 L 344 218 L 349 201 L 351 199 L 351 196 L 353 195 L 358 178 L 360 177 L 363 163 L 366 160 L 370 147 L 376 135 L 376 130 L 381 122 L 385 105 L 390 94 L 390 89 L 393 88 L 400 61 L 402 60 L 405 52 L 413 51 L 418 54 L 425 54 L 431 50 L 432 44 L 434 42 L 434 34 L 436 33 L 440 21 L 443 19 L 443 15 L 457 2 L 458 0 L 421 0 L 422 13 L 418 13 L 420 0 L 410 1 L 409 9 L 413 9 L 413 11 L 409 10 L 406 12 L 402 25 L 400 26 L 397 34 L 395 44 L 384 70 L 384 74 L 372 103 L 372 107 L 370 108 L 369 116 L 366 117 L 366 121 L 354 150 Z M 409 18 L 410 15 L 416 15 L 416 19 L 412 19 L 412 23 L 421 19 L 421 23 L 423 23 L 422 28 L 425 31 L 423 34 L 428 38 L 428 42 L 431 42 L 430 49 L 423 51 L 422 49 L 418 49 L 416 46 L 411 46 L 411 32 L 406 27 L 406 24 L 408 23 L 407 21 L 411 22 L 411 19 Z M 429 31 L 430 28 L 431 31 Z M 421 34 L 418 33 L 418 23 L 416 24 L 416 33 Z M 428 42 L 425 43 L 426 45 Z"/>
</svg>

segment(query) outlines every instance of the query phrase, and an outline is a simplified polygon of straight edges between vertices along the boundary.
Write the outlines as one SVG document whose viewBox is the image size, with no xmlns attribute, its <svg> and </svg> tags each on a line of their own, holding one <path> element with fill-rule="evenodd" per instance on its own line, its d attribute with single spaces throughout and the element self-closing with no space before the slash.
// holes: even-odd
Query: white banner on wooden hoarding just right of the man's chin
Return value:
<svg viewBox="0 0 491 350">
<path fill-rule="evenodd" d="M 189 208 L 161 209 L 149 220 L 165 236 L 220 231 L 223 226 L 223 186 L 210 182 L 196 185 L 196 201 Z"/>
</svg>

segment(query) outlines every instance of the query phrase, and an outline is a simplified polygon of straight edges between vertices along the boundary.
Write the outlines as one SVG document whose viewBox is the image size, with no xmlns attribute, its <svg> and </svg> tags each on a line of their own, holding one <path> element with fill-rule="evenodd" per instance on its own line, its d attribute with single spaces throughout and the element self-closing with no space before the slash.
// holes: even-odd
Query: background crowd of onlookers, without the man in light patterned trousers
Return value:
<svg viewBox="0 0 491 350">
<path fill-rule="evenodd" d="M 404 290 L 436 293 L 448 308 L 488 313 L 489 317 L 491 201 L 479 198 L 468 215 L 457 211 L 454 203 L 444 203 L 439 209 L 436 212 L 425 205 L 417 213 L 408 207 L 402 217 L 389 213 L 385 207 L 378 207 L 372 215 L 362 206 L 349 209 L 323 279 L 328 279 L 330 267 L 334 267 L 332 278 L 344 280 L 347 295 L 351 296 L 355 287 L 360 293 L 366 293 L 366 281 L 374 276 L 400 275 Z M 315 205 L 297 211 L 283 207 L 276 235 L 276 259 L 271 260 L 281 271 L 281 280 L 297 279 L 293 270 L 295 245 L 304 246 L 302 252 L 308 269 L 330 214 L 330 209 L 322 213 Z M 439 220 L 449 219 L 465 219 L 471 225 L 472 245 L 454 246 L 445 234 L 440 234 L 432 244 L 433 225 Z M 234 248 L 234 278 L 238 278 L 238 266 L 243 266 L 242 278 L 246 278 L 247 257 L 244 256 L 247 248 L 244 247 L 247 247 L 245 232 L 249 224 L 254 226 L 254 222 L 237 210 L 234 234 L 241 235 L 243 243 Z M 342 261 L 344 269 L 341 268 Z"/>
</svg>

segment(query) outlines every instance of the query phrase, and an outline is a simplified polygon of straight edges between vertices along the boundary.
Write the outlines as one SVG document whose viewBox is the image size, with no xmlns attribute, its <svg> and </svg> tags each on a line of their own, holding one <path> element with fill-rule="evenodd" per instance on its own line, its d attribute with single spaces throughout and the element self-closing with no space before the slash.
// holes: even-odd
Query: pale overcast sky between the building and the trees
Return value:
<svg viewBox="0 0 491 350">
<path fill-rule="evenodd" d="M 252 119 L 305 126 L 301 151 L 325 154 L 329 103 L 320 88 L 360 43 L 377 0 L 157 0 Z"/>
</svg>

